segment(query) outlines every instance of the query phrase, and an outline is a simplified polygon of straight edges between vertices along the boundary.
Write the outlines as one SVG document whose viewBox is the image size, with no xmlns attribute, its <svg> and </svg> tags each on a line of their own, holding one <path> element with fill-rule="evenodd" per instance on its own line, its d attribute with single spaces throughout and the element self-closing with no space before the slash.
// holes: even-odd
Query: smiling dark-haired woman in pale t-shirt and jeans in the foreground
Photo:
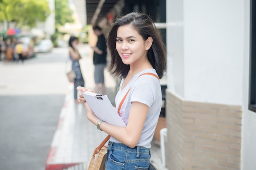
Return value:
<svg viewBox="0 0 256 170">
<path fill-rule="evenodd" d="M 106 170 L 147 170 L 150 142 L 162 106 L 158 77 L 162 78 L 166 71 L 165 45 L 153 20 L 143 13 L 129 13 L 118 19 L 110 29 L 107 44 L 112 59 L 110 70 L 122 77 L 115 102 L 127 126 L 99 120 L 81 94 L 79 101 L 85 102 L 88 119 L 111 136 Z"/>
</svg>

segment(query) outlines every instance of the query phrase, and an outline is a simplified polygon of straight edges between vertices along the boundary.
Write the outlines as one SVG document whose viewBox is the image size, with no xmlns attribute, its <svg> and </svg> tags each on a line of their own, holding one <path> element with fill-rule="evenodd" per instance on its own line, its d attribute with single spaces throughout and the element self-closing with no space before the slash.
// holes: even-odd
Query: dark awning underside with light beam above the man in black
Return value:
<svg viewBox="0 0 256 170">
<path fill-rule="evenodd" d="M 87 24 L 97 24 L 102 18 L 108 17 L 108 13 L 119 0 L 85 0 Z"/>
</svg>

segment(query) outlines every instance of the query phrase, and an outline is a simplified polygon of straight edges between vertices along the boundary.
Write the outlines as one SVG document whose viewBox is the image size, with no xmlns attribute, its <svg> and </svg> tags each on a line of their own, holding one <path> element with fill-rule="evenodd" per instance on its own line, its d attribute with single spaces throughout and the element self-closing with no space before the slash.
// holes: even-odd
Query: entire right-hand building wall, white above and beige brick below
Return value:
<svg viewBox="0 0 256 170">
<path fill-rule="evenodd" d="M 166 0 L 169 170 L 255 170 L 250 0 Z"/>
</svg>

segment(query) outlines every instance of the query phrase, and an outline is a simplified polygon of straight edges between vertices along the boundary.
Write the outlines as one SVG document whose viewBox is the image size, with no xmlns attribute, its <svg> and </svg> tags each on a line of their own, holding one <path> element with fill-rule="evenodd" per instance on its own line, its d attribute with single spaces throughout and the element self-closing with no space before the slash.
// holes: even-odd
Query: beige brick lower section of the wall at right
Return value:
<svg viewBox="0 0 256 170">
<path fill-rule="evenodd" d="M 168 170 L 240 170 L 241 106 L 189 102 L 166 91 Z"/>
</svg>

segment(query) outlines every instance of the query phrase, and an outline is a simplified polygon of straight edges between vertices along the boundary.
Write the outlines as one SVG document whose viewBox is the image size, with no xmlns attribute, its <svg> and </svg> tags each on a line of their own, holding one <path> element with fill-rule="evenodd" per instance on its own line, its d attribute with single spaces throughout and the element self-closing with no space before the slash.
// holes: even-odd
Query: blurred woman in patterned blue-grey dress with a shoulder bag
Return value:
<svg viewBox="0 0 256 170">
<path fill-rule="evenodd" d="M 72 69 L 74 70 L 74 72 L 76 74 L 76 78 L 74 81 L 74 101 L 76 103 L 79 102 L 79 100 L 77 99 L 76 87 L 84 86 L 84 79 L 83 79 L 83 75 L 82 75 L 82 72 L 80 69 L 80 64 L 79 64 L 79 59 L 81 59 L 81 56 L 77 50 L 78 43 L 79 43 L 78 38 L 75 36 L 71 36 L 70 40 L 68 41 L 69 55 L 70 55 L 70 59 L 72 60 Z"/>
</svg>

